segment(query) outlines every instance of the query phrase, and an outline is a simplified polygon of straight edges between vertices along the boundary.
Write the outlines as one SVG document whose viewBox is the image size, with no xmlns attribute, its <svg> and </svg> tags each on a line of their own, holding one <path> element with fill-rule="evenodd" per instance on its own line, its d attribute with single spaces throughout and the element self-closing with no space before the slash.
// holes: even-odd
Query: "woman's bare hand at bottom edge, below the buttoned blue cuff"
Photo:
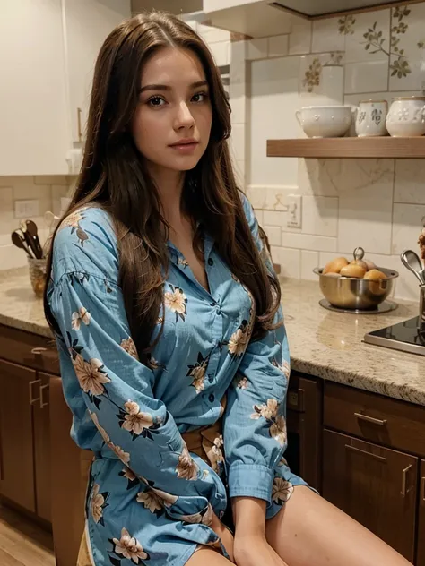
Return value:
<svg viewBox="0 0 425 566">
<path fill-rule="evenodd" d="M 262 535 L 235 536 L 233 552 L 238 566 L 287 566 Z"/>
</svg>

